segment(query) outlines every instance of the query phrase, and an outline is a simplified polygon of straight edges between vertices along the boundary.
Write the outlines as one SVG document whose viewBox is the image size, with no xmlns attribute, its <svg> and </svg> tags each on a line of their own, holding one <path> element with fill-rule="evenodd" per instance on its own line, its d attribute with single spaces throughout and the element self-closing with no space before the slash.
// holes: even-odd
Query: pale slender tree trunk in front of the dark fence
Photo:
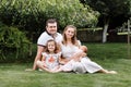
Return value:
<svg viewBox="0 0 131 87">
<path fill-rule="evenodd" d="M 105 18 L 104 21 L 104 30 L 103 30 L 103 44 L 107 41 L 107 29 L 109 26 L 109 18 Z"/>
</svg>

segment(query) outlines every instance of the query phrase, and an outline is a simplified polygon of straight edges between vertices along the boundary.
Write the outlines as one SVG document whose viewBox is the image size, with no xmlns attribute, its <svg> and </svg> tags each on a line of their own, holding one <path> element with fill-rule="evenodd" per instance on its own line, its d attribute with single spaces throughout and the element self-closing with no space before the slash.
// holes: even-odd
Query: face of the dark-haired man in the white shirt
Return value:
<svg viewBox="0 0 131 87">
<path fill-rule="evenodd" d="M 57 23 L 48 23 L 46 29 L 49 34 L 53 35 L 57 33 Z"/>
</svg>

